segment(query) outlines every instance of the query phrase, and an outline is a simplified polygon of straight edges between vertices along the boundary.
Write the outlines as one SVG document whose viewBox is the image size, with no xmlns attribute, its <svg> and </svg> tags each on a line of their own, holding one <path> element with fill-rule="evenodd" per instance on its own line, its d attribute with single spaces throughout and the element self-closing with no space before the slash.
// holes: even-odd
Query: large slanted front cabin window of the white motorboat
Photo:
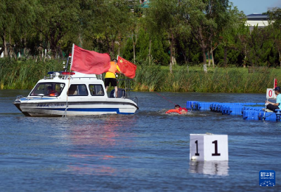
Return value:
<svg viewBox="0 0 281 192">
<path fill-rule="evenodd" d="M 38 83 L 30 96 L 58 97 L 65 88 L 65 83 Z"/>
</svg>

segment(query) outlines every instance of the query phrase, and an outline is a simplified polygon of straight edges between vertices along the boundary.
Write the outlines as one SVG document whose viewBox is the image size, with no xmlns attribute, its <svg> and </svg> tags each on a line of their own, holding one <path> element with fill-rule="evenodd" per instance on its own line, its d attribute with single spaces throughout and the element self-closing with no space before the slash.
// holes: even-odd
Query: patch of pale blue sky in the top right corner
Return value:
<svg viewBox="0 0 281 192">
<path fill-rule="evenodd" d="M 239 11 L 243 11 L 245 15 L 252 13 L 264 13 L 268 8 L 280 7 L 281 0 L 229 0 L 237 6 Z"/>
</svg>

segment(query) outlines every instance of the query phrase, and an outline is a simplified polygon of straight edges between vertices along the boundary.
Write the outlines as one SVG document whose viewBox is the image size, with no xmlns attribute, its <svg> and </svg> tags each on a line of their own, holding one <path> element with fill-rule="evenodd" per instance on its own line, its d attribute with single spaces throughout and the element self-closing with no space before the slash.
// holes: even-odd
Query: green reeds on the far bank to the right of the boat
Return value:
<svg viewBox="0 0 281 192">
<path fill-rule="evenodd" d="M 268 73 L 249 74 L 243 68 L 208 68 L 205 73 L 200 67 L 174 67 L 160 71 L 161 78 L 155 78 L 154 72 L 145 69 L 149 78 L 138 78 L 138 83 L 145 91 L 149 91 L 149 83 L 153 82 L 155 91 L 171 92 L 266 92 L 266 88 L 273 88 L 273 79 L 281 81 L 281 69 L 269 69 Z M 141 71 L 141 73 L 144 73 Z M 140 71 L 137 71 L 140 73 Z M 138 90 L 136 88 L 136 90 Z M 151 90 L 150 90 L 151 91 Z"/>
</svg>

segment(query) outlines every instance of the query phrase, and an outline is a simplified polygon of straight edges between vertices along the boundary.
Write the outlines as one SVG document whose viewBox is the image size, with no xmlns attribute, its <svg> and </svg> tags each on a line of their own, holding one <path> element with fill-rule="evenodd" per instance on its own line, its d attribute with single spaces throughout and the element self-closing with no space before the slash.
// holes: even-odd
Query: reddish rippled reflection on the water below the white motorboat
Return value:
<svg viewBox="0 0 281 192">
<path fill-rule="evenodd" d="M 113 114 L 97 118 L 96 124 L 93 121 L 73 122 L 70 130 L 73 148 L 69 153 L 70 158 L 78 158 L 79 163 L 69 163 L 68 171 L 107 176 L 129 172 L 126 166 L 120 167 L 118 163 L 127 162 L 131 157 L 123 156 L 118 151 L 135 145 L 133 138 L 136 135 L 131 132 L 131 128 L 136 124 L 136 117 L 121 116 L 123 121 L 118 121 L 119 118 Z"/>
</svg>

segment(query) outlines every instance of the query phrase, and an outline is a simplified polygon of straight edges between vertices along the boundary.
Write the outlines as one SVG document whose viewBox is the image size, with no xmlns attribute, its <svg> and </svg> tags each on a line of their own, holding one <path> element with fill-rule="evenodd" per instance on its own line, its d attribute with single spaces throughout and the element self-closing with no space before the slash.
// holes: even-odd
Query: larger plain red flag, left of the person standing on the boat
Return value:
<svg viewBox="0 0 281 192">
<path fill-rule="evenodd" d="M 83 74 L 103 74 L 110 69 L 110 55 L 85 50 L 74 45 L 72 71 Z"/>
</svg>

